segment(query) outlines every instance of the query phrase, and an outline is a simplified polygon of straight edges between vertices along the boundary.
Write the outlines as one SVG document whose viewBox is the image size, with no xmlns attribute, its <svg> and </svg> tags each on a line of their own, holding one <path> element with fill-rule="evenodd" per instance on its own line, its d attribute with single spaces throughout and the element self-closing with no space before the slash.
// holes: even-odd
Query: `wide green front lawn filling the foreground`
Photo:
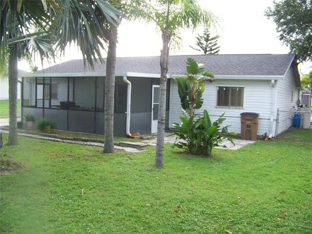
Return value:
<svg viewBox="0 0 312 234">
<path fill-rule="evenodd" d="M 1 166 L 21 168 L 0 177 L 0 232 L 309 234 L 311 139 L 214 149 L 210 158 L 166 144 L 157 169 L 155 147 L 103 155 L 20 137 L 1 150 Z"/>
</svg>

